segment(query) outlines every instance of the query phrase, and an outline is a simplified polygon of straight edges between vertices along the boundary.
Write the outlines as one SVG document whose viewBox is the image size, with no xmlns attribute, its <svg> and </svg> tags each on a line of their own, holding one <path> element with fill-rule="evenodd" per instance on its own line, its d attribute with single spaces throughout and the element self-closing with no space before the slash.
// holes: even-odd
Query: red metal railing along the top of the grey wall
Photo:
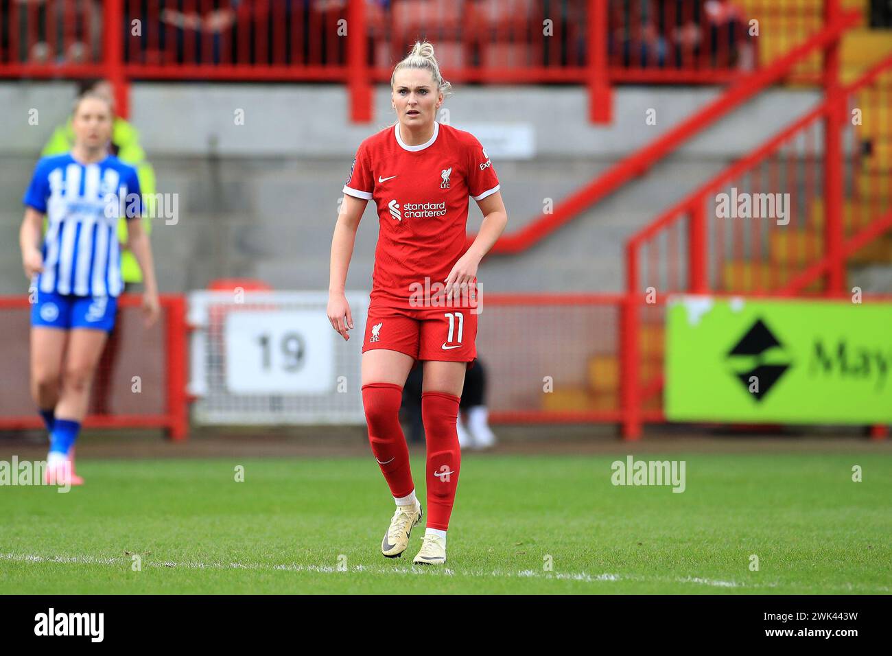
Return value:
<svg viewBox="0 0 892 656">
<path fill-rule="evenodd" d="M 12 0 L 0 14 L 0 77 L 109 77 L 123 108 L 132 79 L 342 82 L 353 120 L 370 120 L 369 85 L 427 38 L 448 79 L 584 84 L 591 119 L 607 121 L 611 83 L 728 82 L 823 24 L 814 4 L 741 2 Z M 771 28 L 761 56 L 754 18 Z"/>
</svg>

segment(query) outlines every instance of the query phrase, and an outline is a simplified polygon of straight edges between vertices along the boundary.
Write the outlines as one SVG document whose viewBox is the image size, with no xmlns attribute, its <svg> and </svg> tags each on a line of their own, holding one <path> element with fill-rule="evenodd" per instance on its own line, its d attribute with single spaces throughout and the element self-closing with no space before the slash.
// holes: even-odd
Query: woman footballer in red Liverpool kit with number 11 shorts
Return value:
<svg viewBox="0 0 892 656">
<path fill-rule="evenodd" d="M 477 313 L 470 292 L 477 266 L 505 229 L 508 215 L 480 142 L 434 120 L 450 94 L 434 46 L 416 43 L 394 67 L 391 89 L 398 120 L 359 145 L 343 187 L 327 314 L 332 327 L 350 339 L 353 319 L 344 284 L 359 219 L 373 201 L 379 232 L 361 385 L 372 453 L 396 502 L 381 551 L 388 558 L 401 556 L 425 514 L 416 499 L 399 419 L 402 386 L 421 361 L 427 527 L 414 562 L 443 564 L 461 462 L 458 402 L 465 372 L 476 357 Z M 483 224 L 466 250 L 468 196 L 483 212 Z"/>
</svg>

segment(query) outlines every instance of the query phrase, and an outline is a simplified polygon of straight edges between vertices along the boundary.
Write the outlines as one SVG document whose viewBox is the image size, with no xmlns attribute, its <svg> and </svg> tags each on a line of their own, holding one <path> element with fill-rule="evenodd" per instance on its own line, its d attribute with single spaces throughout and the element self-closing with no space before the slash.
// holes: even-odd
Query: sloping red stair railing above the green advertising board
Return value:
<svg viewBox="0 0 892 656">
<path fill-rule="evenodd" d="M 658 305 L 673 292 L 839 296 L 847 293 L 847 262 L 892 262 L 892 240 L 881 238 L 892 227 L 890 76 L 887 57 L 850 85 L 828 85 L 822 104 L 629 240 L 627 436 L 639 434 L 644 392 L 662 385 L 640 380 L 642 299 Z M 859 120 L 847 120 L 850 110 Z M 865 161 L 864 144 L 880 160 Z"/>
</svg>

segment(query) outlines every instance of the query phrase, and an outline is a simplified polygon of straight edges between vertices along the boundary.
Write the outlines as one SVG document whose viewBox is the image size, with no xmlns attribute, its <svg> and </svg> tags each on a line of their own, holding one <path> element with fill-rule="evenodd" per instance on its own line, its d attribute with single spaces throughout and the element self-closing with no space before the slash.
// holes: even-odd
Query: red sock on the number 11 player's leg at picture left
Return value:
<svg viewBox="0 0 892 656">
<path fill-rule="evenodd" d="M 362 386 L 368 441 L 395 497 L 407 496 L 415 489 L 409 469 L 409 447 L 400 426 L 401 404 L 402 387 L 399 385 L 369 383 Z M 452 430 L 455 432 L 454 425 Z"/>
</svg>

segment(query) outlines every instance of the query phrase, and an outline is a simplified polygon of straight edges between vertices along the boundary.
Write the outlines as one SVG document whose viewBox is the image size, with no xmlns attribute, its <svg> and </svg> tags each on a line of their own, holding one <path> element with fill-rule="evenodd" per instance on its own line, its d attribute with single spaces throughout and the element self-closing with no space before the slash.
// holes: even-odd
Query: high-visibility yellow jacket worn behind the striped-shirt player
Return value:
<svg viewBox="0 0 892 656">
<path fill-rule="evenodd" d="M 136 168 L 136 177 L 139 179 L 139 188 L 143 193 L 146 216 L 143 218 L 143 229 L 152 232 L 152 219 L 154 216 L 155 200 L 155 170 L 152 164 L 145 161 L 145 151 L 139 145 L 139 132 L 126 120 L 115 118 L 111 126 L 111 143 L 118 148 L 118 159 L 125 164 Z M 56 155 L 70 152 L 74 146 L 74 129 L 69 119 L 65 125 L 60 125 L 53 132 L 53 136 L 46 142 L 42 156 Z M 127 243 L 127 220 L 121 218 L 118 223 L 118 240 L 121 244 Z M 120 275 L 124 282 L 137 283 L 143 281 L 143 272 L 139 270 L 136 257 L 128 250 L 120 253 Z"/>
</svg>

